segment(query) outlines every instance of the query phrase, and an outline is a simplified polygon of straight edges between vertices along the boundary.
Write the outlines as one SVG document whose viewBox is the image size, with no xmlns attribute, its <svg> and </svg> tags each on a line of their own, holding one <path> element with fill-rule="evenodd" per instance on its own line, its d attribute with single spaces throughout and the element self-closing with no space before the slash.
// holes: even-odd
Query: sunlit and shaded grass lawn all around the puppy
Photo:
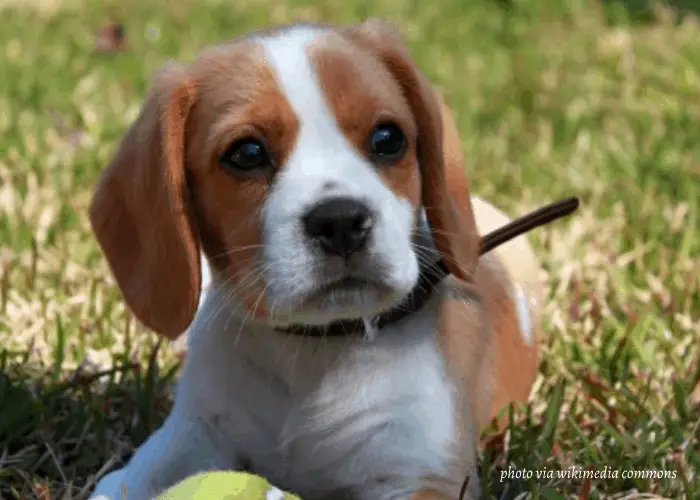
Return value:
<svg viewBox="0 0 700 500">
<path fill-rule="evenodd" d="M 457 114 L 476 193 L 512 214 L 582 200 L 531 235 L 549 293 L 541 375 L 483 438 L 487 493 L 700 498 L 697 18 L 597 0 L 0 9 L 0 498 L 84 497 L 170 405 L 177 349 L 126 312 L 86 218 L 153 71 L 261 25 L 370 15 L 399 25 Z M 125 26 L 120 53 L 94 49 L 108 20 Z M 547 472 L 501 481 L 523 469 Z M 675 477 L 622 477 L 645 470 Z"/>
</svg>

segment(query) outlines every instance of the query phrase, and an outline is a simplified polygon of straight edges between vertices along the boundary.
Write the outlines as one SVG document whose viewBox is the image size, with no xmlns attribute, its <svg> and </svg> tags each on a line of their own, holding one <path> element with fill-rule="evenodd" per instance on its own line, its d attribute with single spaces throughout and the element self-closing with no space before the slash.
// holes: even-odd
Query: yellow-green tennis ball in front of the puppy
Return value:
<svg viewBox="0 0 700 500">
<path fill-rule="evenodd" d="M 158 500 L 301 500 L 264 478 L 234 471 L 203 472 L 166 490 Z"/>
</svg>

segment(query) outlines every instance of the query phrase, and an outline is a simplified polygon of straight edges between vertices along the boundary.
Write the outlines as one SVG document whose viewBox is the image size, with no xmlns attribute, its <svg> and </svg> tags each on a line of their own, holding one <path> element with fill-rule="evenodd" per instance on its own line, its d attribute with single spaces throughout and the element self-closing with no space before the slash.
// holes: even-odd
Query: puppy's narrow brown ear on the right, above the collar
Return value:
<svg viewBox="0 0 700 500">
<path fill-rule="evenodd" d="M 479 237 L 468 191 L 455 199 L 451 196 L 455 190 L 448 188 L 448 180 L 455 175 L 446 171 L 445 163 L 455 158 L 445 157 L 443 117 L 437 94 L 416 68 L 408 49 L 390 24 L 368 19 L 341 32 L 377 54 L 401 85 L 418 125 L 423 207 L 435 245 L 449 271 L 461 280 L 471 281 L 478 259 Z M 460 175 L 464 177 L 463 172 Z M 468 189 L 466 182 L 460 185 Z"/>
</svg>

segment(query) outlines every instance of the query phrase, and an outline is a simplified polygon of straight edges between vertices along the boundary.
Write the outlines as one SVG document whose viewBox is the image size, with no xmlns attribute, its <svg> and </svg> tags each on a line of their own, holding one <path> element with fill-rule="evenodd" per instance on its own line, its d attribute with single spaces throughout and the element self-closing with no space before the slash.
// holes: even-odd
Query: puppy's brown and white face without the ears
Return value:
<svg viewBox="0 0 700 500">
<path fill-rule="evenodd" d="M 223 50 L 192 66 L 215 82 L 190 112 L 204 126 L 188 155 L 213 266 L 253 314 L 278 320 L 391 306 L 418 276 L 417 132 L 399 84 L 334 31 Z"/>
</svg>

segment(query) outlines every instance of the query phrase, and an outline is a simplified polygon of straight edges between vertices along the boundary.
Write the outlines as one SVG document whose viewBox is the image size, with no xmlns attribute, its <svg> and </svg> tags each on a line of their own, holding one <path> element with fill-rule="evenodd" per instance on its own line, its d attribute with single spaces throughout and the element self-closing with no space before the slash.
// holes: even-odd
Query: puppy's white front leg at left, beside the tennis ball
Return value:
<svg viewBox="0 0 700 500">
<path fill-rule="evenodd" d="M 221 446 L 215 430 L 201 419 L 172 413 L 123 469 L 103 477 L 94 500 L 148 500 L 181 480 L 207 470 L 238 466 L 235 452 Z"/>
</svg>

